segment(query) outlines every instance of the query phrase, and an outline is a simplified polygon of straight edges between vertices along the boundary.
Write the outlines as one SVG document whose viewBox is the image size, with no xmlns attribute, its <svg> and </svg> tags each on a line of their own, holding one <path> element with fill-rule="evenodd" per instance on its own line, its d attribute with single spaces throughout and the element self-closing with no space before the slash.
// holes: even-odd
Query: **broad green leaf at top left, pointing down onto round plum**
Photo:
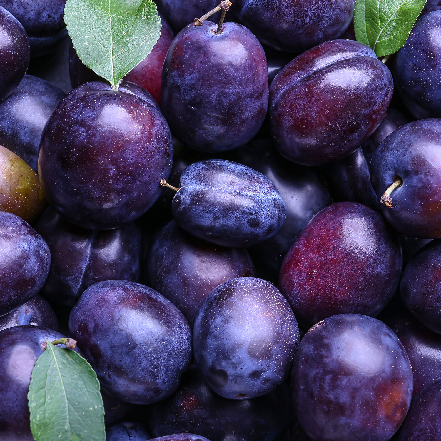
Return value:
<svg viewBox="0 0 441 441">
<path fill-rule="evenodd" d="M 67 0 L 64 21 L 83 64 L 113 90 L 161 35 L 161 19 L 151 0 Z"/>
</svg>

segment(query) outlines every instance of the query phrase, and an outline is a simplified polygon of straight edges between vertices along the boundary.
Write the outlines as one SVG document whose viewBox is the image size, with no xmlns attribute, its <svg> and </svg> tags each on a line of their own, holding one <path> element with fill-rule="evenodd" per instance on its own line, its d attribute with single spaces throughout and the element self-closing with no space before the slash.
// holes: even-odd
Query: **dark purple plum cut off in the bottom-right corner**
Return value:
<svg viewBox="0 0 441 441">
<path fill-rule="evenodd" d="M 397 441 L 438 441 L 441 433 L 441 378 L 412 400 Z"/>
</svg>

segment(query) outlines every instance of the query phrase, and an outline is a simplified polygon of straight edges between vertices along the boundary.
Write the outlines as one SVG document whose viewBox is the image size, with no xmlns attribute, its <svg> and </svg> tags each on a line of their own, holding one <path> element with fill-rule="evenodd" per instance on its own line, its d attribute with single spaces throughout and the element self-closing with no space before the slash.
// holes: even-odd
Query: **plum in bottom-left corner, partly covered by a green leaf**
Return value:
<svg viewBox="0 0 441 441">
<path fill-rule="evenodd" d="M 15 326 L 0 331 L 1 440 L 34 441 L 27 399 L 30 375 L 43 353 L 40 344 L 45 339 L 54 341 L 63 337 L 52 329 L 37 326 Z"/>
</svg>

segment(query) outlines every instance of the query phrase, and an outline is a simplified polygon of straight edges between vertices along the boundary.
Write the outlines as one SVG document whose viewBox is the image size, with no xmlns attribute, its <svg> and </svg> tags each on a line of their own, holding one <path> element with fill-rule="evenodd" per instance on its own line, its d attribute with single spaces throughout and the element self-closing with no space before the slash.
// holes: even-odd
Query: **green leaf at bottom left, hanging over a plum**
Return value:
<svg viewBox="0 0 441 441">
<path fill-rule="evenodd" d="M 94 370 L 75 351 L 46 343 L 28 393 L 35 441 L 105 441 L 103 400 Z"/>
</svg>

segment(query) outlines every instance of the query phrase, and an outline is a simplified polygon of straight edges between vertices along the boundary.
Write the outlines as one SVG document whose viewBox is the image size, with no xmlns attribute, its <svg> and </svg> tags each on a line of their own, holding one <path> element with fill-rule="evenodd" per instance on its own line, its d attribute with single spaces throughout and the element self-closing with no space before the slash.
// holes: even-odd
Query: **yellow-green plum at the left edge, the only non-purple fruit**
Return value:
<svg viewBox="0 0 441 441">
<path fill-rule="evenodd" d="M 37 173 L 11 150 L 0 146 L 0 211 L 30 223 L 47 205 Z"/>
</svg>

